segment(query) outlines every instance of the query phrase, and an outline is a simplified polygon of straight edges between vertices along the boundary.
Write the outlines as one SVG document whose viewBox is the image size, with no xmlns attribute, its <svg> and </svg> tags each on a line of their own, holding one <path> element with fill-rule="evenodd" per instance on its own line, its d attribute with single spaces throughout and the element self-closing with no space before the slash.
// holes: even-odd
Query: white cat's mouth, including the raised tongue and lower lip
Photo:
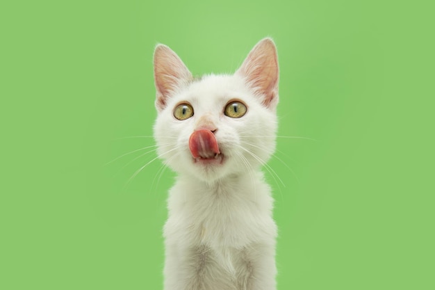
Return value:
<svg viewBox="0 0 435 290">
<path fill-rule="evenodd" d="M 224 160 L 215 134 L 208 129 L 200 129 L 190 135 L 189 149 L 195 163 L 222 163 Z"/>
</svg>

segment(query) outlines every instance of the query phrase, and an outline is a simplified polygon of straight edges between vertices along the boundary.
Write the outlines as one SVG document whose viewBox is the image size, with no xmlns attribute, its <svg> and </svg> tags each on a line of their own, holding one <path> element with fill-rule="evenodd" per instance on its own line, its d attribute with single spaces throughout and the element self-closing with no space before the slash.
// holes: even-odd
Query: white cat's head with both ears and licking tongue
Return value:
<svg viewBox="0 0 435 290">
<path fill-rule="evenodd" d="M 158 154 L 179 174 L 212 182 L 251 172 L 274 152 L 277 50 L 265 38 L 233 75 L 196 79 L 165 45 L 154 52 Z"/>
</svg>

